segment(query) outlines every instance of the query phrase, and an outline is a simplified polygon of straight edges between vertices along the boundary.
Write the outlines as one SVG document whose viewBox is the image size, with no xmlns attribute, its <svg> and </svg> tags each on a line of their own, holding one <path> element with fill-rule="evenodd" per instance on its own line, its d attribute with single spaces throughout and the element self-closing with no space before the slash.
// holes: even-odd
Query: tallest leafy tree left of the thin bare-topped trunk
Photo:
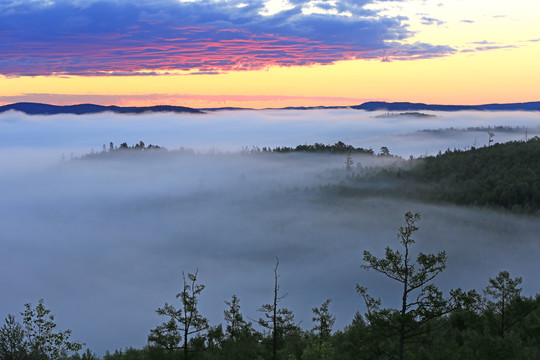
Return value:
<svg viewBox="0 0 540 360">
<path fill-rule="evenodd" d="M 184 340 L 182 349 L 184 358 L 188 358 L 188 340 L 193 334 L 198 334 L 208 329 L 208 320 L 199 314 L 197 308 L 198 297 L 204 290 L 204 285 L 197 284 L 197 274 L 186 274 L 182 272 L 184 287 L 182 292 L 176 295 L 180 298 L 181 307 L 176 309 L 174 305 L 165 303 L 163 308 L 158 308 L 156 312 L 159 315 L 169 316 L 169 321 L 158 325 L 150 331 L 148 341 L 152 344 L 164 347 L 168 350 L 178 349 L 180 341 Z"/>
</svg>

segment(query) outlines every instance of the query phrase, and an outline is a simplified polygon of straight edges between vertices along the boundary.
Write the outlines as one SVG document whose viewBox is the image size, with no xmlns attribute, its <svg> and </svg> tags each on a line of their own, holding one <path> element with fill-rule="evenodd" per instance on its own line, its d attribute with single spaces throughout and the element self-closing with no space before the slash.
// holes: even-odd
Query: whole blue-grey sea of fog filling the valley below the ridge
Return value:
<svg viewBox="0 0 540 360">
<path fill-rule="evenodd" d="M 327 298 L 335 329 L 365 308 L 355 284 L 383 304 L 399 288 L 361 269 L 362 251 L 397 248 L 406 211 L 420 212 L 416 251 L 448 255 L 436 283 L 484 288 L 500 270 L 540 289 L 538 218 L 374 197 L 325 196 L 312 189 L 347 176 L 343 156 L 250 154 L 243 147 L 381 146 L 403 157 L 523 140 L 540 134 L 539 113 L 432 113 L 384 117 L 355 110 L 240 111 L 203 115 L 0 115 L 0 317 L 40 298 L 72 339 L 99 354 L 146 344 L 174 303 L 182 271 L 206 285 L 200 310 L 216 325 L 225 300 L 245 316 L 273 295 L 279 257 L 281 305 L 305 329 Z M 454 128 L 454 131 L 420 131 Z M 80 160 L 109 142 L 139 141 L 194 151 Z M 73 158 L 73 160 L 71 159 Z M 353 155 L 356 164 L 374 159 Z M 353 169 L 354 171 L 354 169 Z M 18 317 L 21 320 L 21 317 Z"/>
</svg>

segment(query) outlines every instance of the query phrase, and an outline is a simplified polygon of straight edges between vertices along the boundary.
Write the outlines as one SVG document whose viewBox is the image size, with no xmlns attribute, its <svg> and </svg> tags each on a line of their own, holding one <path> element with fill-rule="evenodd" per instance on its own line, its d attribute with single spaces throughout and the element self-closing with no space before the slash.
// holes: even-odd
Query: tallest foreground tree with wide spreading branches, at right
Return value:
<svg viewBox="0 0 540 360">
<path fill-rule="evenodd" d="M 442 292 L 431 283 L 446 268 L 444 251 L 435 255 L 419 253 L 416 261 L 411 259 L 409 247 L 415 243 L 412 236 L 418 230 L 416 222 L 419 220 L 418 213 L 405 214 L 405 226 L 401 226 L 397 234 L 404 253 L 387 247 L 385 257 L 379 259 L 369 251 L 364 251 L 364 261 L 367 263 L 362 265 L 364 269 L 373 269 L 401 283 L 401 308 L 379 309 L 380 301 L 367 295 L 366 288 L 357 285 L 357 291 L 366 300 L 370 323 L 386 323 L 391 333 L 398 336 L 400 360 L 403 359 L 407 340 L 424 334 L 424 325 L 477 298 L 474 291 L 464 294 L 461 289 L 457 289 L 452 290 L 451 298 L 446 300 Z M 413 296 L 413 293 L 417 295 Z"/>
</svg>

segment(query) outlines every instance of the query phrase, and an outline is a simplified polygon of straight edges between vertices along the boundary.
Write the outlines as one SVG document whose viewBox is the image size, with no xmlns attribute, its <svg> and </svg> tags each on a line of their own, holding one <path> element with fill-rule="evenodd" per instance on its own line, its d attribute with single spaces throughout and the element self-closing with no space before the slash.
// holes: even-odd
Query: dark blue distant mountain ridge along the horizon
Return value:
<svg viewBox="0 0 540 360">
<path fill-rule="evenodd" d="M 384 102 L 370 101 L 354 106 L 298 106 L 271 108 L 267 110 L 331 110 L 331 109 L 355 109 L 365 111 L 540 111 L 540 101 L 510 104 L 485 104 L 485 105 L 432 105 L 410 102 Z M 15 110 L 28 115 L 56 115 L 56 114 L 98 114 L 112 112 L 116 114 L 142 114 L 142 113 L 192 113 L 203 114 L 207 111 L 238 111 L 254 110 L 249 108 L 223 107 L 194 109 L 185 106 L 156 105 L 156 106 L 103 106 L 95 104 L 78 105 L 50 105 L 32 102 L 20 102 L 0 106 L 0 113 Z"/>
</svg>

